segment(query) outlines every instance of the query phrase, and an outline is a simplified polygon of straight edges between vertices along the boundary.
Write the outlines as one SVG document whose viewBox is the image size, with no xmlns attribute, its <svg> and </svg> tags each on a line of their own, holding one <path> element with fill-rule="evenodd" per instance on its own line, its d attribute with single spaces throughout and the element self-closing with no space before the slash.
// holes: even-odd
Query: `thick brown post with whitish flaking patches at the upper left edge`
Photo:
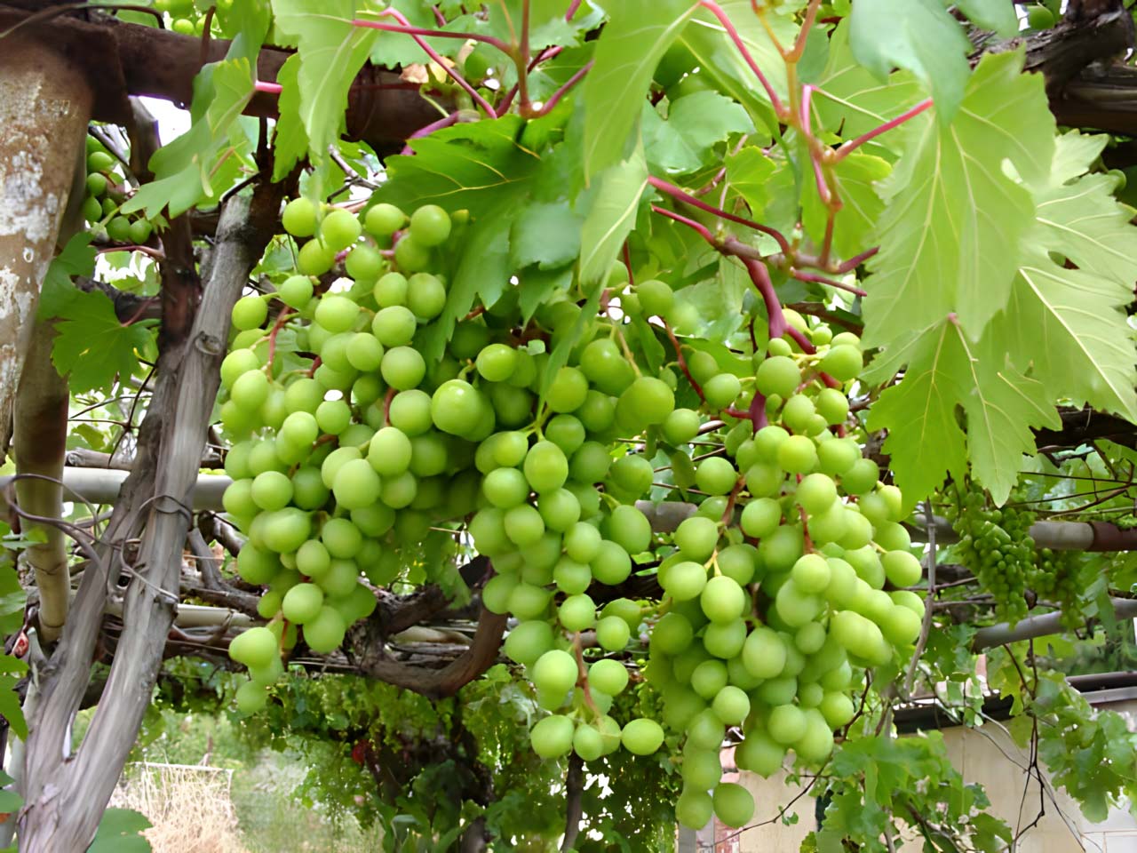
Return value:
<svg viewBox="0 0 1137 853">
<path fill-rule="evenodd" d="M 83 68 L 47 43 L 9 35 L 0 50 L 0 459 L 40 285 L 72 188 L 81 183 L 91 90 Z M 82 201 L 82 191 L 75 202 Z"/>
</svg>

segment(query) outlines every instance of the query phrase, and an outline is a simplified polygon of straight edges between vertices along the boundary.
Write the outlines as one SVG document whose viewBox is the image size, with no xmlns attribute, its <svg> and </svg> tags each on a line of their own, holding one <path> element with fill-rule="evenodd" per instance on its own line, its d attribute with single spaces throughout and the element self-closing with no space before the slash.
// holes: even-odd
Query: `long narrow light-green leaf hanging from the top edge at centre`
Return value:
<svg viewBox="0 0 1137 853">
<path fill-rule="evenodd" d="M 615 8 L 584 77 L 587 182 L 624 157 L 655 66 L 694 9 L 683 0 L 624 0 Z"/>
</svg>

